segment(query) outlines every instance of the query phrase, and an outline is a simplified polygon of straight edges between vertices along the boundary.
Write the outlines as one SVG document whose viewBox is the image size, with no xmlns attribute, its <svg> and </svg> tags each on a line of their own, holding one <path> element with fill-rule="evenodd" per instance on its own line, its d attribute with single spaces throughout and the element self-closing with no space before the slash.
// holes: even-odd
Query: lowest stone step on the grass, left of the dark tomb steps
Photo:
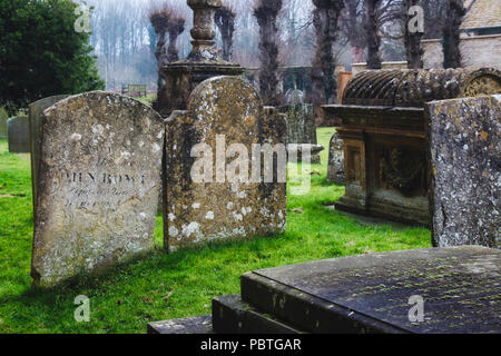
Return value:
<svg viewBox="0 0 501 356">
<path fill-rule="evenodd" d="M 214 334 L 210 315 L 149 323 L 148 334 Z"/>
</svg>

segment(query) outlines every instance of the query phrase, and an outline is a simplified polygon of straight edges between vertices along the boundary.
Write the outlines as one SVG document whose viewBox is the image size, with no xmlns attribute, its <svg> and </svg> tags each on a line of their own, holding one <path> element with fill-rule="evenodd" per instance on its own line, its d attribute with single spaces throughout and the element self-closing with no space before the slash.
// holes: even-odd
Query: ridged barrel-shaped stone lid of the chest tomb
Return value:
<svg viewBox="0 0 501 356">
<path fill-rule="evenodd" d="M 353 78 L 343 105 L 424 107 L 434 100 L 501 92 L 501 71 L 493 68 L 367 70 Z"/>
</svg>

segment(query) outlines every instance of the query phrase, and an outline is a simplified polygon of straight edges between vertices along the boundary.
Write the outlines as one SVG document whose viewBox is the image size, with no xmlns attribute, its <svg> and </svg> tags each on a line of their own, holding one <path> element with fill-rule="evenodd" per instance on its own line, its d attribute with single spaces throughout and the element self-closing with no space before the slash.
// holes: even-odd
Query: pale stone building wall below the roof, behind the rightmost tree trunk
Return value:
<svg viewBox="0 0 501 356">
<path fill-rule="evenodd" d="M 424 68 L 443 68 L 442 40 L 423 40 Z M 461 55 L 465 68 L 495 68 L 501 70 L 501 34 L 461 39 Z"/>
</svg>

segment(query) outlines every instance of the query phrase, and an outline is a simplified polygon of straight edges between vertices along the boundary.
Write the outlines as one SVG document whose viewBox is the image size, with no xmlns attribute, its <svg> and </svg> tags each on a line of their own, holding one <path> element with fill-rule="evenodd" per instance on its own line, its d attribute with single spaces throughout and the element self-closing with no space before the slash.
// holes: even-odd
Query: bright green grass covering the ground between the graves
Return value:
<svg viewBox="0 0 501 356">
<path fill-rule="evenodd" d="M 333 128 L 318 129 L 324 147 Z M 361 224 L 324 204 L 344 188 L 325 181 L 328 150 L 314 165 L 312 189 L 288 196 L 284 235 L 166 254 L 158 217 L 157 249 L 99 279 L 55 290 L 31 288 L 32 206 L 29 155 L 11 155 L 0 140 L 0 334 L 145 333 L 148 322 L 210 314 L 213 297 L 239 293 L 243 273 L 342 257 L 431 247 L 424 228 Z M 90 322 L 75 320 L 75 298 L 90 298 Z"/>
</svg>

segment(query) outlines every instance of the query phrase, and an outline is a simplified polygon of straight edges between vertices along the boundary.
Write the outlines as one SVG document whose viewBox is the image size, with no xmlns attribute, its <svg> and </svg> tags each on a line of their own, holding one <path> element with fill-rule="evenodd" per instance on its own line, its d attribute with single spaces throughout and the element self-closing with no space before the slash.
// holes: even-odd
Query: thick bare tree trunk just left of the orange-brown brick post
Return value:
<svg viewBox="0 0 501 356">
<path fill-rule="evenodd" d="M 337 37 L 343 0 L 313 0 L 313 24 L 316 30 L 316 50 L 312 69 L 312 102 L 316 107 L 335 101 L 336 80 L 333 44 Z"/>
</svg>

